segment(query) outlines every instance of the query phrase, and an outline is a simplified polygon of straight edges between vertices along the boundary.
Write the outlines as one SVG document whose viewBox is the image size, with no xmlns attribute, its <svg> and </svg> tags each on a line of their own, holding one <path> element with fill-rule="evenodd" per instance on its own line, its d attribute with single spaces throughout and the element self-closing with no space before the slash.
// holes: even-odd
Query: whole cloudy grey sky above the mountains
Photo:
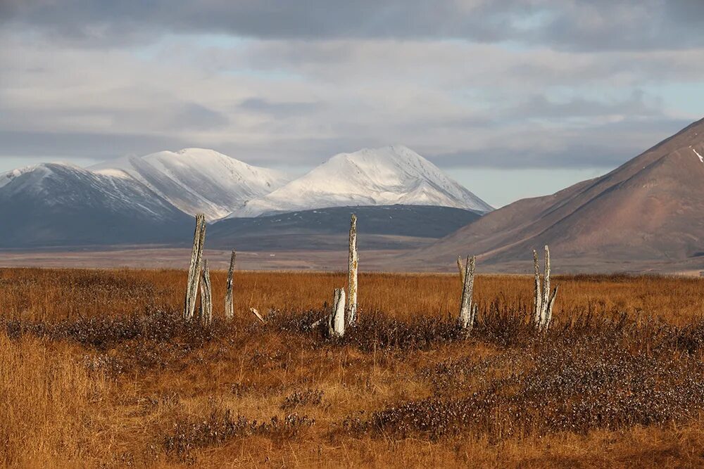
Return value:
<svg viewBox="0 0 704 469">
<path fill-rule="evenodd" d="M 0 170 L 403 143 L 495 206 L 704 117 L 701 0 L 0 0 Z"/>
</svg>

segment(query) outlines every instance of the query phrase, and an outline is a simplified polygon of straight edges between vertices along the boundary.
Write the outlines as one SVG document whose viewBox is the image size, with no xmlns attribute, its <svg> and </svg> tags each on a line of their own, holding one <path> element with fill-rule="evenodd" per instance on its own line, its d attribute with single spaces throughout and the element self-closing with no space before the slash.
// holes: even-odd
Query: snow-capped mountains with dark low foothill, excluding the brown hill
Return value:
<svg viewBox="0 0 704 469">
<path fill-rule="evenodd" d="M 11 220 L 0 247 L 187 243 L 192 215 L 203 213 L 214 226 L 221 220 L 214 232 L 223 245 L 243 240 L 252 248 L 296 249 L 301 243 L 294 234 L 307 236 L 303 245 L 310 245 L 311 236 L 329 238 L 348 229 L 349 212 L 341 217 L 344 210 L 315 209 L 360 207 L 377 217 L 372 208 L 385 207 L 379 216 L 395 223 L 367 233 L 386 237 L 375 245 L 409 248 L 491 210 L 401 146 L 336 155 L 291 179 L 201 148 L 125 157 L 88 169 L 58 163 L 15 169 L 0 175 L 0 216 Z M 267 218 L 294 211 L 301 213 L 286 223 Z M 419 229 L 413 217 L 434 226 Z M 325 245 L 320 236 L 316 246 Z"/>
</svg>

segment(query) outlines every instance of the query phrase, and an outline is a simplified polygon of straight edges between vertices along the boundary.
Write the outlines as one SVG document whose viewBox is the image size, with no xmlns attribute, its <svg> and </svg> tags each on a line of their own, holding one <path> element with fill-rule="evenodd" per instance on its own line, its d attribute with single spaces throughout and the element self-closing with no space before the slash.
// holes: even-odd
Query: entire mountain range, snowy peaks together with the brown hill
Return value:
<svg viewBox="0 0 704 469">
<path fill-rule="evenodd" d="M 547 244 L 557 271 L 696 272 L 703 182 L 704 120 L 608 174 L 498 210 L 404 146 L 340 153 L 295 179 L 188 148 L 0 175 L 0 248 L 187 246 L 205 212 L 210 248 L 332 252 L 356 212 L 360 248 L 385 252 L 372 269 L 454 269 L 474 254 L 484 271 L 529 271 Z"/>
</svg>

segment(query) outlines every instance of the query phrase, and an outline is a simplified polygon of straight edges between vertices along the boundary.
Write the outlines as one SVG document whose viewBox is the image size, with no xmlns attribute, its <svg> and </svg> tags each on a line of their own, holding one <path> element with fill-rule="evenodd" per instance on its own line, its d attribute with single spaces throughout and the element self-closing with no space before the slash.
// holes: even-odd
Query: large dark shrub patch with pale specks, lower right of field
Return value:
<svg viewBox="0 0 704 469">
<path fill-rule="evenodd" d="M 431 397 L 350 416 L 343 428 L 398 439 L 469 434 L 498 441 L 686 420 L 704 411 L 703 335 L 701 321 L 675 328 L 585 314 L 501 355 L 427 367 L 420 375 Z"/>
</svg>

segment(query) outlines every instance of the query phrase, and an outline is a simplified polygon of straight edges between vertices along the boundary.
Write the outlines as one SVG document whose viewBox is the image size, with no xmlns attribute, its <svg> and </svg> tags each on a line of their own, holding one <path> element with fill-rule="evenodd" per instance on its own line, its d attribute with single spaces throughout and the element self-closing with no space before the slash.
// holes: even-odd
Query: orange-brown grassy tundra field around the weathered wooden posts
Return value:
<svg viewBox="0 0 704 469">
<path fill-rule="evenodd" d="M 0 269 L 0 461 L 25 467 L 704 465 L 704 281 L 360 274 L 360 322 L 310 324 L 346 274 Z M 267 313 L 262 324 L 249 312 Z"/>
</svg>

